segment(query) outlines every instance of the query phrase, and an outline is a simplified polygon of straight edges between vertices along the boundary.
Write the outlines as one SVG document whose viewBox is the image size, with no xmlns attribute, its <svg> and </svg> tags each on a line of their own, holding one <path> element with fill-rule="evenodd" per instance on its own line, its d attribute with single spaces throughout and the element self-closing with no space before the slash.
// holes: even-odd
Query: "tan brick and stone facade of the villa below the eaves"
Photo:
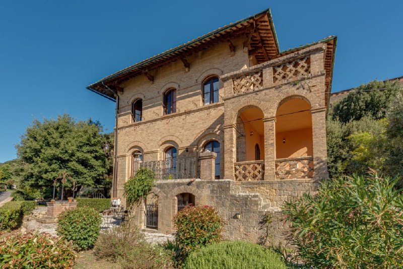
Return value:
<svg viewBox="0 0 403 269">
<path fill-rule="evenodd" d="M 166 149 L 174 147 L 178 159 L 195 157 L 199 176 L 157 181 L 152 192 L 157 197 L 158 231 L 174 232 L 172 218 L 178 210 L 178 195 L 190 193 L 196 205 L 218 209 L 225 223 L 225 239 L 262 241 L 267 231 L 262 230 L 261 220 L 270 212 L 275 220 L 269 226 L 271 240 L 279 242 L 287 228 L 279 222 L 284 201 L 314 192 L 318 181 L 327 178 L 326 85 L 331 74 L 326 66 L 334 51 L 329 53 L 328 44 L 318 42 L 258 63 L 261 54 L 250 55 L 245 36 L 234 36 L 231 44 L 233 47 L 218 42 L 187 55 L 187 67 L 177 60 L 150 71 L 149 77 L 135 76 L 119 84 L 117 197 L 124 204 L 123 185 L 133 168 L 141 165 L 134 152 L 143 154 L 144 163 L 164 161 Z M 219 101 L 204 105 L 203 83 L 211 76 L 219 78 Z M 176 89 L 176 112 L 164 115 L 163 94 L 171 88 Z M 143 100 L 143 119 L 133 122 L 131 104 L 138 99 Z M 286 138 L 276 140 L 276 130 L 294 133 L 287 141 L 298 139 L 298 130 L 292 131 L 298 122 L 281 125 L 278 120 L 287 115 L 279 115 L 279 108 L 292 100 L 302 100 L 309 107 L 304 110 L 307 116 L 300 116 L 299 121 L 308 122 L 304 131 L 311 133 L 307 135 L 311 142 L 305 143 L 308 150 L 302 149 L 305 155 L 287 156 L 290 158 L 280 163 L 276 145 L 286 143 Z M 211 141 L 220 144 L 219 154 L 204 152 Z M 260 154 L 252 154 L 255 147 L 261 149 Z M 254 159 L 259 156 L 260 160 Z M 216 158 L 220 179 L 215 179 Z M 285 170 L 280 173 L 279 169 Z M 136 218 L 141 228 L 147 228 L 144 202 Z"/>
</svg>

